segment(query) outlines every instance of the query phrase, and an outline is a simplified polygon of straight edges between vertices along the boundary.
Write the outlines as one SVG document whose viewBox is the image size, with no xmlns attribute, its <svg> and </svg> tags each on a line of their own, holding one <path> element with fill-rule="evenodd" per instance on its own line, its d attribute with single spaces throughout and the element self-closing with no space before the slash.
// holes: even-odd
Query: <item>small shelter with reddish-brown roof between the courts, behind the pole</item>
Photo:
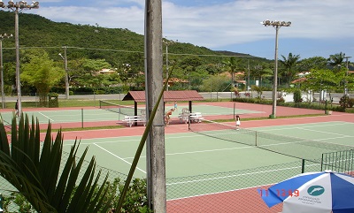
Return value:
<svg viewBox="0 0 354 213">
<path fill-rule="evenodd" d="M 138 103 L 145 103 L 145 91 L 130 91 L 122 99 L 123 101 L 135 101 L 134 109 L 137 115 Z M 189 102 L 189 111 L 192 112 L 192 101 L 204 101 L 204 97 L 196 90 L 181 91 L 165 91 L 164 92 L 164 108 L 165 102 Z"/>
</svg>

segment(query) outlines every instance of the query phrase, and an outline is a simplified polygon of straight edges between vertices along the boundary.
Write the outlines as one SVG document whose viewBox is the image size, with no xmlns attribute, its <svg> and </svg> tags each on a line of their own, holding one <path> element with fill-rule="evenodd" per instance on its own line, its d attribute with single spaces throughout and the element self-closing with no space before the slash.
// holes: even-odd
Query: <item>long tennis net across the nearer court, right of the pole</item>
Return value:
<svg viewBox="0 0 354 213">
<path fill-rule="evenodd" d="M 236 129 L 235 126 L 204 120 L 203 123 L 190 123 L 192 132 L 204 134 L 224 141 L 232 141 L 248 146 L 255 146 L 285 156 L 319 162 L 323 153 L 350 150 L 354 147 L 325 141 L 263 133 L 249 129 Z"/>
</svg>

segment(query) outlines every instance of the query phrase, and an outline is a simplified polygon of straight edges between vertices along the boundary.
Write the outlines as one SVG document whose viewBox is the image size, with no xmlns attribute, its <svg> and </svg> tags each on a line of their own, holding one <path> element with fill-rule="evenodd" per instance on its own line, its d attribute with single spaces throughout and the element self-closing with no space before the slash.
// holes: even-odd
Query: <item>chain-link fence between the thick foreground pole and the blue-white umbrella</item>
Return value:
<svg viewBox="0 0 354 213">
<path fill-rule="evenodd" d="M 321 171 L 321 160 L 166 179 L 167 212 L 281 212 L 282 204 L 266 206 L 262 190 L 303 172 Z M 333 164 L 331 168 L 337 171 L 342 166 Z M 351 171 L 345 172 L 354 176 Z"/>
</svg>

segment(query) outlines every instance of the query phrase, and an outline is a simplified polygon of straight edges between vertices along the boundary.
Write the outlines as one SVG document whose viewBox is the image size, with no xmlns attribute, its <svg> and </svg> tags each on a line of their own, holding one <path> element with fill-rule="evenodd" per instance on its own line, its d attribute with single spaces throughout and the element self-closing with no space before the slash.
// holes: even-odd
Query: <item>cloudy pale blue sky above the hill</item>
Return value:
<svg viewBox="0 0 354 213">
<path fill-rule="evenodd" d="M 38 1 L 38 10 L 23 12 L 56 22 L 144 31 L 145 0 Z M 276 30 L 261 24 L 266 19 L 291 22 L 279 29 L 279 58 L 340 52 L 354 57 L 352 0 L 162 0 L 168 40 L 273 59 Z"/>
</svg>

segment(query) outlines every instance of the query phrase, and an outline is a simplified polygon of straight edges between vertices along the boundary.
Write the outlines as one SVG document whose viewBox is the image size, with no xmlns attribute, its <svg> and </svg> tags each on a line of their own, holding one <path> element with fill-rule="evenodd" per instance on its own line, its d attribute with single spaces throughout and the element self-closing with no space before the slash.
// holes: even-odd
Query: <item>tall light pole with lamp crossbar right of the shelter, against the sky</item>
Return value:
<svg viewBox="0 0 354 213">
<path fill-rule="evenodd" d="M 277 101 L 277 90 L 278 90 L 278 85 L 277 85 L 277 79 L 278 79 L 278 31 L 279 28 L 281 27 L 290 27 L 291 22 L 285 22 L 285 21 L 270 21 L 270 20 L 264 20 L 263 22 L 260 22 L 262 25 L 265 27 L 272 26 L 275 28 L 275 57 L 274 57 L 274 62 L 275 62 L 275 68 L 274 68 L 274 76 L 273 76 L 273 108 L 272 108 L 272 115 L 269 115 L 269 118 L 276 118 L 276 101 Z"/>
</svg>

